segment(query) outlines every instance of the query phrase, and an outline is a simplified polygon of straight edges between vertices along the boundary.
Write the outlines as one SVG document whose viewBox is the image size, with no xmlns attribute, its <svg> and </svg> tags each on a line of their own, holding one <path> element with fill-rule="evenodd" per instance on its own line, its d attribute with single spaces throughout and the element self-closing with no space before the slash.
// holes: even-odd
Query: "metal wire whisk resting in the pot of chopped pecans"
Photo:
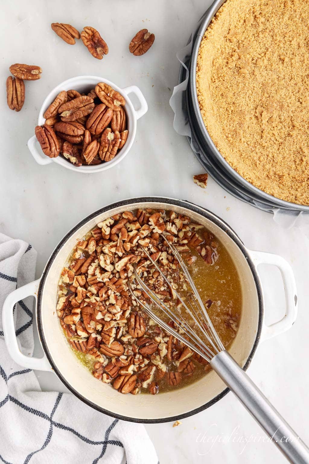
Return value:
<svg viewBox="0 0 309 464">
<path fill-rule="evenodd" d="M 145 312 L 151 317 L 151 319 L 210 363 L 210 366 L 214 369 L 214 371 L 221 377 L 227 387 L 232 390 L 243 406 L 246 407 L 268 436 L 272 438 L 271 441 L 277 445 L 280 451 L 282 451 L 284 456 L 291 463 L 309 464 L 308 447 L 224 348 L 208 316 L 207 310 L 205 309 L 183 258 L 177 248 L 168 241 L 164 234 L 160 235 L 169 245 L 170 250 L 183 270 L 184 276 L 192 290 L 192 293 L 189 292 L 189 297 L 181 296 L 170 280 L 164 275 L 164 272 L 161 270 L 159 265 L 151 258 L 148 251 L 141 245 L 140 249 L 145 253 L 161 277 L 163 277 L 166 284 L 170 287 L 171 292 L 177 296 L 185 311 L 190 315 L 193 324 L 189 324 L 181 312 L 177 312 L 176 314 L 175 309 L 170 309 L 168 305 L 158 298 L 158 296 L 139 276 L 136 264 L 134 264 L 134 277 L 140 288 L 151 299 L 152 303 L 154 303 L 158 309 L 163 311 L 163 313 L 168 316 L 179 329 L 181 329 L 180 331 L 186 335 L 186 338 L 155 314 L 151 310 L 150 306 L 143 302 L 136 295 L 136 292 L 134 293 L 134 289 L 129 282 L 129 289 L 132 296 L 145 309 Z M 189 338 L 189 340 L 187 338 Z"/>
</svg>

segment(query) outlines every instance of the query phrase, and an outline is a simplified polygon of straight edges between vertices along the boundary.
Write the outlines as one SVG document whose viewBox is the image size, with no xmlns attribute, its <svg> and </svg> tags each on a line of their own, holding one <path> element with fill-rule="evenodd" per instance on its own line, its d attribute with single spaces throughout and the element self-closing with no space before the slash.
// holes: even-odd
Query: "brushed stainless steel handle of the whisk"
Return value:
<svg viewBox="0 0 309 464">
<path fill-rule="evenodd" d="M 226 350 L 210 366 L 291 463 L 309 463 L 308 447 Z"/>
</svg>

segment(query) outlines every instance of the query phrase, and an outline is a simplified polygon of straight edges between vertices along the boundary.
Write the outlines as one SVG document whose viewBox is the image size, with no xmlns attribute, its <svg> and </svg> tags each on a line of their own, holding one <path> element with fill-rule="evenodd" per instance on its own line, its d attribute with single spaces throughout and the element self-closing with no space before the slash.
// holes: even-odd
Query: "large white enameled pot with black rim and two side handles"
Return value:
<svg viewBox="0 0 309 464">
<path fill-rule="evenodd" d="M 154 396 L 121 395 L 111 386 L 95 379 L 77 360 L 69 349 L 56 313 L 58 279 L 76 241 L 101 220 L 135 208 L 163 208 L 187 215 L 213 232 L 227 248 L 239 273 L 243 297 L 240 327 L 229 352 L 245 370 L 259 342 L 290 329 L 295 321 L 296 283 L 292 269 L 284 258 L 248 250 L 222 219 L 186 201 L 155 197 L 123 200 L 96 211 L 77 224 L 53 251 L 42 277 L 13 291 L 6 298 L 3 306 L 3 328 L 7 349 L 13 360 L 21 366 L 54 371 L 80 400 L 101 412 L 124 420 L 156 423 L 180 419 L 202 411 L 220 400 L 228 389 L 215 372 L 210 372 L 201 380 L 174 392 Z M 257 272 L 261 263 L 277 266 L 284 282 L 286 313 L 271 326 L 266 326 L 264 321 L 264 298 Z M 44 349 L 44 357 L 41 359 L 22 354 L 15 336 L 13 306 L 29 295 L 37 298 L 38 333 Z"/>
</svg>

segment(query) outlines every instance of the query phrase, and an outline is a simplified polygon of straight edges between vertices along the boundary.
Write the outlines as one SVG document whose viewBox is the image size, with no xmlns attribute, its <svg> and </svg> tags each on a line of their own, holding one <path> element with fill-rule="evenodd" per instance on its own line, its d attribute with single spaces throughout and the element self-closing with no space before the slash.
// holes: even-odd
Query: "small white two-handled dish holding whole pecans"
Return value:
<svg viewBox="0 0 309 464">
<path fill-rule="evenodd" d="M 117 155 L 114 157 L 113 160 L 107 161 L 106 163 L 101 163 L 93 166 L 87 166 L 87 165 L 82 165 L 80 167 L 74 166 L 69 160 L 66 160 L 63 158 L 63 156 L 57 156 L 57 158 L 49 158 L 48 156 L 45 156 L 44 153 L 41 150 L 41 147 L 37 141 L 37 138 L 35 135 L 33 135 L 29 140 L 28 140 L 28 148 L 38 164 L 45 165 L 45 164 L 50 164 L 52 162 L 60 164 L 63 166 L 63 168 L 71 169 L 71 171 L 76 171 L 79 173 L 97 173 L 100 171 L 105 171 L 106 169 L 112 168 L 116 164 L 118 164 L 121 160 L 124 159 L 124 157 L 127 155 L 129 152 L 130 148 L 132 147 L 132 143 L 134 142 L 135 134 L 136 134 L 136 126 L 137 126 L 137 120 L 143 116 L 147 110 L 147 102 L 145 100 L 144 95 L 142 92 L 139 90 L 139 88 L 136 85 L 130 85 L 130 87 L 125 87 L 123 89 L 120 89 L 118 85 L 114 84 L 114 82 L 108 81 L 107 79 L 104 79 L 103 77 L 98 77 L 98 76 L 77 76 L 77 77 L 72 77 L 71 79 L 68 79 L 61 84 L 57 85 L 51 92 L 47 95 L 45 98 L 43 105 L 40 109 L 39 115 L 38 115 L 38 125 L 41 126 L 45 122 L 44 118 L 44 113 L 49 107 L 50 103 L 52 103 L 55 98 L 57 97 L 58 93 L 61 92 L 61 90 L 70 90 L 74 89 L 77 90 L 80 93 L 87 93 L 90 90 L 94 89 L 95 85 L 98 84 L 98 82 L 104 82 L 105 84 L 110 85 L 113 87 L 114 90 L 117 90 L 126 100 L 126 104 L 124 106 L 124 109 L 126 111 L 126 124 L 127 124 L 127 129 L 129 131 L 128 133 L 128 138 L 126 140 L 126 143 L 123 148 L 121 148 Z M 135 97 L 139 101 L 139 109 L 135 110 L 134 106 L 129 98 L 130 94 L 134 94 Z"/>
</svg>

